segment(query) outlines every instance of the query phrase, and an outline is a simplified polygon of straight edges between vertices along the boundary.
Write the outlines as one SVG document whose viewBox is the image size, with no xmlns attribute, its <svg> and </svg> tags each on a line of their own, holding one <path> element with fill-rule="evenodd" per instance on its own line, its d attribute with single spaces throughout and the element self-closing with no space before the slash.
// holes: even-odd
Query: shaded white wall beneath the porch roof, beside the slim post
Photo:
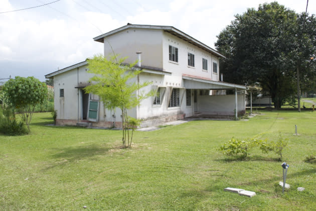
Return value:
<svg viewBox="0 0 316 211">
<path fill-rule="evenodd" d="M 244 94 L 237 95 L 238 113 L 245 111 Z M 233 116 L 235 105 L 235 94 L 228 95 L 198 95 L 199 112 L 210 115 Z"/>
</svg>

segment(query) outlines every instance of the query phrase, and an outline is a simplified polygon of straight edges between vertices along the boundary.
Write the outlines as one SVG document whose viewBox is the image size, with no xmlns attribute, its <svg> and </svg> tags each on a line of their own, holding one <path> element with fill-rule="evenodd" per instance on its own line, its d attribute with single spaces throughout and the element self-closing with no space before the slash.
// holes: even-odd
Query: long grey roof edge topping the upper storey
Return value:
<svg viewBox="0 0 316 211">
<path fill-rule="evenodd" d="M 110 32 L 107 32 L 105 34 L 102 34 L 100 36 L 97 36 L 95 38 L 93 38 L 94 41 L 97 42 L 104 42 L 104 37 L 108 37 L 110 35 L 113 35 L 117 32 L 123 31 L 125 29 L 129 29 L 129 28 L 138 28 L 138 29 L 156 29 L 156 30 L 164 30 L 165 32 L 168 32 L 176 37 L 179 37 L 182 40 L 185 40 L 188 43 L 191 43 L 192 45 L 195 45 L 209 53 L 212 53 L 216 56 L 225 58 L 225 56 L 223 56 L 222 54 L 220 54 L 219 52 L 217 52 L 216 50 L 214 50 L 213 48 L 201 43 L 200 41 L 194 39 L 193 37 L 191 37 L 190 35 L 180 31 L 179 29 L 176 29 L 175 27 L 172 26 L 153 26 L 153 25 L 133 25 L 133 24 L 127 24 L 123 27 L 120 27 L 118 29 L 112 30 Z"/>
</svg>

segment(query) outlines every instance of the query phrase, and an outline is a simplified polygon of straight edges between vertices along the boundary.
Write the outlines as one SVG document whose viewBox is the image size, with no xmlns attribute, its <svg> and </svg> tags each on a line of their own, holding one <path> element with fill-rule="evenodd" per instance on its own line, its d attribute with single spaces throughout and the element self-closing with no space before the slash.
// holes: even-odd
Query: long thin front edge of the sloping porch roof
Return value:
<svg viewBox="0 0 316 211">
<path fill-rule="evenodd" d="M 237 90 L 247 90 L 248 87 L 244 85 L 234 84 L 234 83 L 227 83 L 223 81 L 213 81 L 213 80 L 206 80 L 201 78 L 195 78 L 190 76 L 182 76 L 183 79 L 194 81 L 198 83 L 203 83 L 204 86 L 207 84 L 212 85 L 213 87 L 210 87 L 211 89 L 237 89 Z M 199 87 L 197 87 L 199 89 Z"/>
</svg>

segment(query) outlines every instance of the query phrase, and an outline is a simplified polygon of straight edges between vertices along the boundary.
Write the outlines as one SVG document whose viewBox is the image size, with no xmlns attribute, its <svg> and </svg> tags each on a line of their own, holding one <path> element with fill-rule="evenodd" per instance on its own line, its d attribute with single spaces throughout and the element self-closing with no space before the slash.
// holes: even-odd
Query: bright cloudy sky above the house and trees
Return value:
<svg viewBox="0 0 316 211">
<path fill-rule="evenodd" d="M 93 38 L 127 23 L 173 26 L 215 48 L 216 36 L 236 14 L 270 2 L 273 1 L 0 0 L 0 85 L 10 75 L 45 81 L 46 74 L 103 54 L 103 44 Z M 305 12 L 307 1 L 277 2 L 300 13 Z M 45 6 L 37 7 L 41 5 Z M 36 8 L 26 9 L 31 7 Z M 21 11 L 10 12 L 15 10 Z M 315 0 L 308 2 L 307 12 L 316 14 Z"/>
</svg>

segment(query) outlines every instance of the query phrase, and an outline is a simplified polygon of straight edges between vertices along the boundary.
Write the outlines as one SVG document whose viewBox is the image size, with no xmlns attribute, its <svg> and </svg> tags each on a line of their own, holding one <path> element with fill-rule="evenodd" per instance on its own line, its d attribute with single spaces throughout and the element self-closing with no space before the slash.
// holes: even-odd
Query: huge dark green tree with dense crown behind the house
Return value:
<svg viewBox="0 0 316 211">
<path fill-rule="evenodd" d="M 297 92 L 293 55 L 305 50 L 297 49 L 301 24 L 298 18 L 294 11 L 276 2 L 236 15 L 217 36 L 215 44 L 226 56 L 220 61 L 225 80 L 248 85 L 260 83 L 263 91 L 270 93 L 276 109 L 292 99 Z"/>
</svg>

